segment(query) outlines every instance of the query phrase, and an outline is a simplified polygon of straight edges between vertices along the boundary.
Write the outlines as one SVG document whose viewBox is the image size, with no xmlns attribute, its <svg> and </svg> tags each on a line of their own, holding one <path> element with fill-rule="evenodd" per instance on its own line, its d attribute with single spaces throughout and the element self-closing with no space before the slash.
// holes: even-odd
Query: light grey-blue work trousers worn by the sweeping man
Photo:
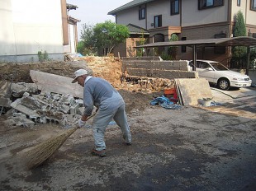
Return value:
<svg viewBox="0 0 256 191">
<path fill-rule="evenodd" d="M 130 127 L 127 122 L 125 102 L 119 93 L 114 93 L 111 98 L 102 101 L 97 114 L 92 121 L 92 133 L 94 137 L 95 149 L 102 151 L 106 149 L 104 142 L 104 134 L 108 123 L 111 119 L 116 121 L 116 124 L 121 128 L 123 138 L 126 143 L 131 142 Z"/>
</svg>

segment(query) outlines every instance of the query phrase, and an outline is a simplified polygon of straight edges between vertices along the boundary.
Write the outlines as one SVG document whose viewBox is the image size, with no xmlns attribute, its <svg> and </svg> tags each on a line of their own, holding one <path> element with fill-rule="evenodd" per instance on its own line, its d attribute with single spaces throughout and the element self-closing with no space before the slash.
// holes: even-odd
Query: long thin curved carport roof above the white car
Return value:
<svg viewBox="0 0 256 191">
<path fill-rule="evenodd" d="M 151 48 L 151 47 L 164 47 L 164 46 L 178 46 L 187 45 L 197 47 L 205 46 L 254 46 L 256 45 L 256 38 L 249 36 L 239 36 L 233 38 L 221 38 L 221 39 L 206 39 L 206 40 L 180 40 L 171 42 L 157 42 L 136 46 L 135 48 Z"/>
</svg>

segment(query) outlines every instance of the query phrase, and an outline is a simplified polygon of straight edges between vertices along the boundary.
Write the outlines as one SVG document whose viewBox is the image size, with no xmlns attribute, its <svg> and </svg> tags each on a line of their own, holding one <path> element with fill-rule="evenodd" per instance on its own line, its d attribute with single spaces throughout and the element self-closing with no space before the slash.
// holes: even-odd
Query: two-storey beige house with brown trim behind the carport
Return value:
<svg viewBox="0 0 256 191">
<path fill-rule="evenodd" d="M 232 37 L 239 11 L 244 15 L 248 35 L 256 37 L 256 0 L 134 0 L 108 14 L 116 17 L 116 24 L 148 30 L 148 42 L 154 43 L 168 41 L 172 34 L 179 40 Z M 230 48 L 197 49 L 197 58 L 228 65 Z M 178 59 L 192 59 L 192 49 L 179 48 Z"/>
</svg>

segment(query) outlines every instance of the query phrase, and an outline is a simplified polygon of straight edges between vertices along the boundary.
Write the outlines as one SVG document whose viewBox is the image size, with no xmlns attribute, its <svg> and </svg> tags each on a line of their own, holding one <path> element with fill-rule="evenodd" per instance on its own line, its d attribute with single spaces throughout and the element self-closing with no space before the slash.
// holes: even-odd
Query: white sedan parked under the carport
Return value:
<svg viewBox="0 0 256 191">
<path fill-rule="evenodd" d="M 189 61 L 189 66 L 193 66 L 193 61 Z M 230 86 L 246 87 L 252 84 L 249 76 L 231 71 L 216 61 L 197 60 L 196 71 L 199 77 L 206 78 L 208 82 L 216 84 L 221 90 L 229 90 Z"/>
</svg>

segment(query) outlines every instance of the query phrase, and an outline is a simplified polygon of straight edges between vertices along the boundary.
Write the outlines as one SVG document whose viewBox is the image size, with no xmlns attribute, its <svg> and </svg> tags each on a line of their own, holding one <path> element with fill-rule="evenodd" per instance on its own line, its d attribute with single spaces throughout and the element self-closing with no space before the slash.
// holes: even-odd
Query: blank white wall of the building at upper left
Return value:
<svg viewBox="0 0 256 191">
<path fill-rule="evenodd" d="M 38 51 L 63 59 L 60 0 L 0 0 L 0 62 L 36 62 Z"/>
</svg>

